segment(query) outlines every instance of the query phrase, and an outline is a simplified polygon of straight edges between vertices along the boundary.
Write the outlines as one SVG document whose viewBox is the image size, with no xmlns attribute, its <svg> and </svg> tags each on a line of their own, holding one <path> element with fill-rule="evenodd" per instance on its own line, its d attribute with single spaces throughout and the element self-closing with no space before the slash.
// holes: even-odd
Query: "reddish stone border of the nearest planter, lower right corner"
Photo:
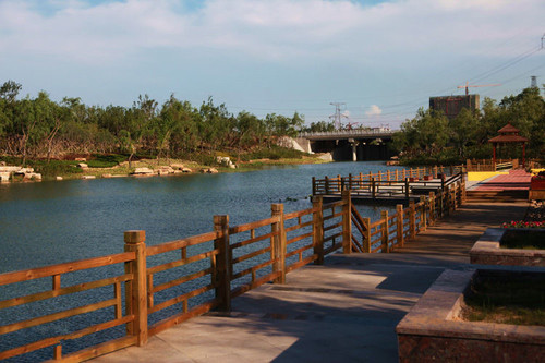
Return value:
<svg viewBox="0 0 545 363">
<path fill-rule="evenodd" d="M 446 270 L 396 327 L 400 362 L 538 362 L 545 327 L 467 322 L 464 292 L 485 271 L 502 278 L 512 270 Z M 540 270 L 526 274 L 545 274 Z"/>
</svg>

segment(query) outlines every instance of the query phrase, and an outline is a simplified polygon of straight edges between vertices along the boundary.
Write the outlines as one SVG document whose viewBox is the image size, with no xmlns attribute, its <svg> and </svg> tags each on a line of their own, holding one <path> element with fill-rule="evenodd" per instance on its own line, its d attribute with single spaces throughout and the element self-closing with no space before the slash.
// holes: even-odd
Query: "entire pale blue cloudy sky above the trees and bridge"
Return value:
<svg viewBox="0 0 545 363">
<path fill-rule="evenodd" d="M 0 0 L 0 84 L 307 123 L 340 104 L 344 123 L 397 129 L 467 82 L 498 101 L 544 84 L 544 15 L 543 0 Z"/>
</svg>

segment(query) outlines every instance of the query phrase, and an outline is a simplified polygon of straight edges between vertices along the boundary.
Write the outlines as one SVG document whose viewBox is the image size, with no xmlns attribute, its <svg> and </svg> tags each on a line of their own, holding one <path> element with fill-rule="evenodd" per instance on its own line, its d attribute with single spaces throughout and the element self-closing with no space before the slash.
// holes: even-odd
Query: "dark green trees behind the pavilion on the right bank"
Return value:
<svg viewBox="0 0 545 363">
<path fill-rule="evenodd" d="M 443 112 L 420 109 L 416 117 L 401 124 L 393 146 L 402 150 L 402 160 L 412 164 L 458 164 L 468 158 L 491 158 L 488 140 L 498 135 L 507 123 L 530 140 L 526 155 L 545 155 L 545 101 L 540 88 L 523 89 L 517 96 L 504 97 L 497 104 L 485 98 L 481 110 L 462 109 L 453 119 Z M 500 157 L 521 157 L 519 145 L 504 146 Z"/>
</svg>

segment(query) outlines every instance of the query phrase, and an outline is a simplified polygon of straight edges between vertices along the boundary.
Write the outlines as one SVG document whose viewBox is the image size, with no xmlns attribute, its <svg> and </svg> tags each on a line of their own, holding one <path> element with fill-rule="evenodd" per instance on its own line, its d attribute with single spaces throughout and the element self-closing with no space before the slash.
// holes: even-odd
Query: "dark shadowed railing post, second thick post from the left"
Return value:
<svg viewBox="0 0 545 363">
<path fill-rule="evenodd" d="M 219 300 L 218 310 L 230 312 L 232 258 L 229 243 L 229 216 L 214 216 L 214 230 L 219 234 L 214 240 L 214 249 L 219 250 L 216 255 L 216 299 Z"/>
</svg>

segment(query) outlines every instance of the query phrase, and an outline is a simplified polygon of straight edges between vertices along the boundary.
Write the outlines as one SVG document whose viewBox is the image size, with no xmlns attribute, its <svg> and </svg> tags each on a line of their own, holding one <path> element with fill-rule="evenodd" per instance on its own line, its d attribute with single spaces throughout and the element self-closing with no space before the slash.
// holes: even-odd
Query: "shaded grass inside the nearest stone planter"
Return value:
<svg viewBox="0 0 545 363">
<path fill-rule="evenodd" d="M 470 322 L 545 326 L 545 274 L 479 276 L 464 302 Z"/>
</svg>

